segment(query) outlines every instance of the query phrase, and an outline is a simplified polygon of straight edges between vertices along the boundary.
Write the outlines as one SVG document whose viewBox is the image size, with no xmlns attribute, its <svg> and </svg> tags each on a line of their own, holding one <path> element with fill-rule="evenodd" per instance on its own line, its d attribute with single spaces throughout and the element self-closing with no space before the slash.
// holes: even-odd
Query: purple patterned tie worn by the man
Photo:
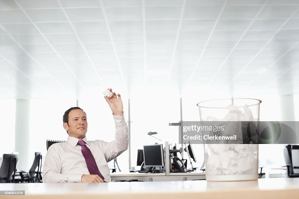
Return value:
<svg viewBox="0 0 299 199">
<path fill-rule="evenodd" d="M 103 175 L 101 174 L 99 168 L 97 167 L 97 163 L 94 160 L 94 157 L 90 151 L 89 148 L 85 145 L 85 142 L 83 140 L 78 141 L 78 145 L 81 146 L 81 152 L 85 158 L 86 166 L 89 171 L 89 174 L 91 175 L 98 175 L 103 180 L 105 179 Z"/>
</svg>

